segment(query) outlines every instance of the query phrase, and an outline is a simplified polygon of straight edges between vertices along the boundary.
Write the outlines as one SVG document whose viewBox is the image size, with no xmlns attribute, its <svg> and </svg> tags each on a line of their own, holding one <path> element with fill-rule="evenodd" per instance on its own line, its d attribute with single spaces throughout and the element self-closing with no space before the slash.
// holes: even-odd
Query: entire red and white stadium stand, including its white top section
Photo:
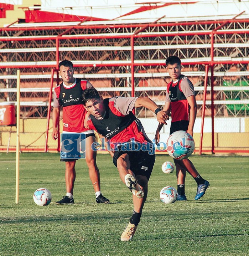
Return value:
<svg viewBox="0 0 249 256">
<path fill-rule="evenodd" d="M 248 1 L 64 4 L 42 1 L 41 6 L 22 6 L 24 16 L 1 28 L 0 101 L 16 101 L 19 68 L 23 117 L 47 118 L 51 69 L 63 59 L 73 62 L 75 77 L 89 80 L 104 97 L 149 96 L 163 106 L 169 55 L 182 59 L 182 73 L 194 84 L 198 116 L 207 65 L 213 68 L 214 80 L 210 68 L 206 116 L 211 114 L 211 88 L 216 118 L 248 116 Z M 56 14 L 53 22 L 51 12 Z M 42 20 L 37 14 L 43 14 Z M 58 81 L 55 72 L 53 86 Z M 153 116 L 143 110 L 138 115 Z"/>
</svg>

